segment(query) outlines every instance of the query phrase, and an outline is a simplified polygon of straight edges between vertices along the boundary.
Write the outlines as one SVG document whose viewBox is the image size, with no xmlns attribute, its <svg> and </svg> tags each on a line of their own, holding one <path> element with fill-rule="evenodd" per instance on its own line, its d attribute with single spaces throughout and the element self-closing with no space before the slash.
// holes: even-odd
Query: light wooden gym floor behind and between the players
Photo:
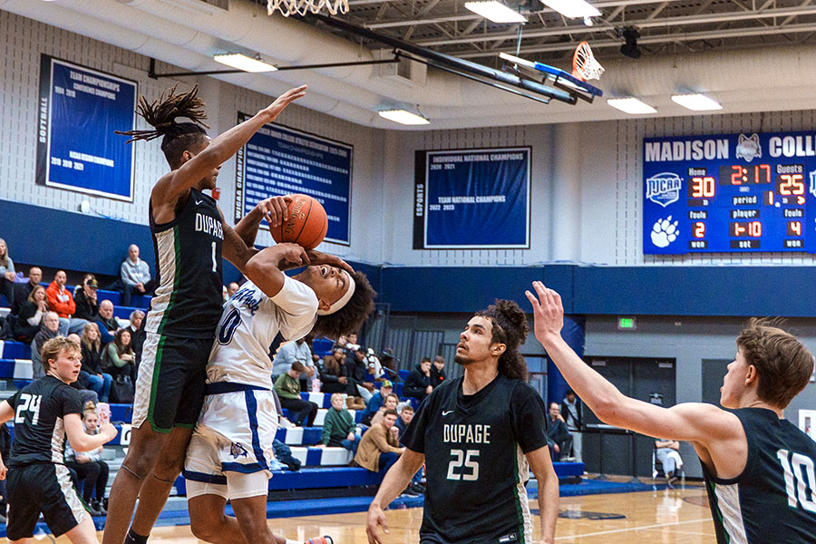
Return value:
<svg viewBox="0 0 816 544">
<path fill-rule="evenodd" d="M 538 501 L 530 501 L 537 509 Z M 702 486 L 559 500 L 557 542 L 577 544 L 715 544 L 714 525 Z M 416 544 L 423 510 L 387 510 L 391 534 L 387 544 Z M 303 541 L 330 535 L 336 544 L 364 544 L 365 512 L 269 520 L 277 535 Z M 539 518 L 534 516 L 535 537 Z M 100 533 L 100 538 L 102 533 Z M 61 537 L 58 544 L 68 544 Z M 151 544 L 197 544 L 189 526 L 154 529 Z"/>
</svg>

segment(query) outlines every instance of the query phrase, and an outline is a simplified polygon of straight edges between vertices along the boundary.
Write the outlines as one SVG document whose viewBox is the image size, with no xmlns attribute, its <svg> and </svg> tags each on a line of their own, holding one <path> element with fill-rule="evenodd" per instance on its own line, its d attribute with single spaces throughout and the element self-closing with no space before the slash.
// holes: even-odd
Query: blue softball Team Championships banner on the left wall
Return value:
<svg viewBox="0 0 816 544">
<path fill-rule="evenodd" d="M 133 201 L 136 82 L 41 55 L 36 182 Z"/>
</svg>

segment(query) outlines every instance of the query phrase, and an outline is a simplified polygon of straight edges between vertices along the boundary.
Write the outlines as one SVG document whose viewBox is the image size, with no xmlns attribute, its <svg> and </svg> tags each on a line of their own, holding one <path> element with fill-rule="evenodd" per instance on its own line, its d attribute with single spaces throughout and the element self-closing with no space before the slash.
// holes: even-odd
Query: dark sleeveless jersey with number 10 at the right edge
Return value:
<svg viewBox="0 0 816 544">
<path fill-rule="evenodd" d="M 743 423 L 748 461 L 731 480 L 703 465 L 717 544 L 816 543 L 816 442 L 771 410 L 729 412 Z"/>
</svg>

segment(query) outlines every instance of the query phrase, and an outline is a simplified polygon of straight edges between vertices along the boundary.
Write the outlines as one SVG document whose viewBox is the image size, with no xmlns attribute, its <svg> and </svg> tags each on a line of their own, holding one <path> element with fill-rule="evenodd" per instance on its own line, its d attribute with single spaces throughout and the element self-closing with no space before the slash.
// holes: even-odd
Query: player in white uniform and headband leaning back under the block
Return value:
<svg viewBox="0 0 816 544">
<path fill-rule="evenodd" d="M 295 277 L 282 272 L 309 263 L 313 266 Z M 184 468 L 190 528 L 197 538 L 217 544 L 295 542 L 276 537 L 267 526 L 268 462 L 274 458 L 278 415 L 268 350 L 278 332 L 287 340 L 312 330 L 336 338 L 363 324 L 374 306 L 374 289 L 361 272 L 343 267 L 348 266 L 337 257 L 278 244 L 247 263 L 264 281 L 244 284 L 224 305 L 209 355 L 207 396 Z M 227 500 L 235 518 L 225 514 Z"/>
</svg>

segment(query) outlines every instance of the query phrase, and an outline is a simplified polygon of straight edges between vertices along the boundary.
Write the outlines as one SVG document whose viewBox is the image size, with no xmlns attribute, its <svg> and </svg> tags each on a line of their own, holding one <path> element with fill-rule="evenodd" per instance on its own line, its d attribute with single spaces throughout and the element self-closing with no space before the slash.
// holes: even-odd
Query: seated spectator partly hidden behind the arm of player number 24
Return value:
<svg viewBox="0 0 816 544">
<path fill-rule="evenodd" d="M 99 417 L 93 403 L 85 403 L 82 414 L 86 434 L 99 432 Z M 108 485 L 110 468 L 102 461 L 102 446 L 92 452 L 74 452 L 71 444 L 65 442 L 65 466 L 76 472 L 77 481 L 84 481 L 83 501 L 89 507 L 92 516 L 104 516 L 105 487 Z M 96 491 L 94 496 L 93 492 Z"/>
</svg>

